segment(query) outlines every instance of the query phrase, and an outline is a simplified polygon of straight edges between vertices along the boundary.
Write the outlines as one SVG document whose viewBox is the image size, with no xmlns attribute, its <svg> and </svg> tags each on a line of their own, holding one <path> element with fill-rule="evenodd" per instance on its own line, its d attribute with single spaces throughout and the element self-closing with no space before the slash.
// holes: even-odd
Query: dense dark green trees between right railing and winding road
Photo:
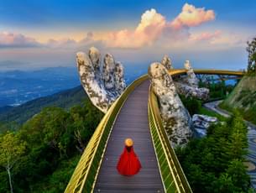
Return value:
<svg viewBox="0 0 256 193">
<path fill-rule="evenodd" d="M 243 165 L 247 126 L 238 112 L 225 124 L 212 125 L 206 138 L 194 138 L 175 149 L 194 192 L 250 192 Z"/>
</svg>

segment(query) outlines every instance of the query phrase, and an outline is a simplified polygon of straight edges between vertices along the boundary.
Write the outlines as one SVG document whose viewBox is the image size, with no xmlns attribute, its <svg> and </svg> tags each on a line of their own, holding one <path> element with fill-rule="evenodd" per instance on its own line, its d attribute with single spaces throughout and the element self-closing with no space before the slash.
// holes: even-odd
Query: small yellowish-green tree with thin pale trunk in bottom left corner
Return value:
<svg viewBox="0 0 256 193">
<path fill-rule="evenodd" d="M 12 132 L 3 134 L 0 138 L 0 164 L 8 173 L 10 191 L 13 193 L 12 174 L 13 165 L 25 153 L 26 143 Z"/>
</svg>

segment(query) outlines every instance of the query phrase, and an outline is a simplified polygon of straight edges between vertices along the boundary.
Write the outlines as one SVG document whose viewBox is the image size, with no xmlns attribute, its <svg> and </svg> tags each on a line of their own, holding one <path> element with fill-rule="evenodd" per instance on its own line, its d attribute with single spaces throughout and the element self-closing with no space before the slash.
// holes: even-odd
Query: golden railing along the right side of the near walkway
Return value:
<svg viewBox="0 0 256 193">
<path fill-rule="evenodd" d="M 170 140 L 160 117 L 157 97 L 152 91 L 151 86 L 149 88 L 148 112 L 150 133 L 165 192 L 192 192 L 175 151 L 170 145 Z"/>
</svg>

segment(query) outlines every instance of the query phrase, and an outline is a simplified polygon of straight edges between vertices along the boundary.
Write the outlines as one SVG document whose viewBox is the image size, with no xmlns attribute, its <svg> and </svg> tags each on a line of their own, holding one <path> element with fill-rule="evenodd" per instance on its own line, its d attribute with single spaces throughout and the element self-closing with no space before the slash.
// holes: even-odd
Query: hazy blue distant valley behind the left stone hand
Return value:
<svg viewBox="0 0 256 193">
<path fill-rule="evenodd" d="M 139 65 L 136 65 L 137 67 Z M 127 66 L 125 80 L 129 84 L 138 76 L 146 73 L 147 68 L 134 70 Z M 0 109 L 6 106 L 19 106 L 39 97 L 46 97 L 58 91 L 80 86 L 75 67 L 54 67 L 34 71 L 0 71 Z"/>
</svg>

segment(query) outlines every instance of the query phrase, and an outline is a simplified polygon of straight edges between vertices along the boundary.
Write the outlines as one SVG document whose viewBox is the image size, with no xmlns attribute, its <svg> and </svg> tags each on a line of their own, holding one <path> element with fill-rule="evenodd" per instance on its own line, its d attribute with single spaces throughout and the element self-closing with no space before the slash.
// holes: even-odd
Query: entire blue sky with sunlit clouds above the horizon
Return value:
<svg viewBox="0 0 256 193">
<path fill-rule="evenodd" d="M 76 66 L 97 47 L 129 68 L 245 69 L 256 1 L 0 0 L 0 71 Z"/>
</svg>

